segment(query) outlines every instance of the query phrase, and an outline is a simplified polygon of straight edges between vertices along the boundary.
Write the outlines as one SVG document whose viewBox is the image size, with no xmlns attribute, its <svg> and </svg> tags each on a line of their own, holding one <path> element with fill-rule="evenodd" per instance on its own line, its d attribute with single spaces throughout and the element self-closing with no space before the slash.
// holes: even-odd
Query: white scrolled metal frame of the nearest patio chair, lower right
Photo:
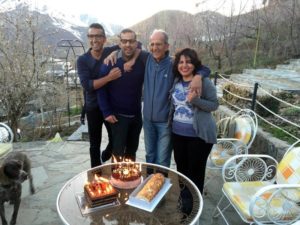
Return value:
<svg viewBox="0 0 300 225">
<path fill-rule="evenodd" d="M 298 143 L 300 143 L 300 140 L 292 144 L 283 157 L 285 157 Z M 216 218 L 221 215 L 225 223 L 229 225 L 224 212 L 232 206 L 240 218 L 249 224 L 288 225 L 300 220 L 300 183 L 276 184 L 277 166 L 278 162 L 269 155 L 237 155 L 227 160 L 222 169 L 224 183 L 268 181 L 270 182 L 270 185 L 262 187 L 251 197 L 249 205 L 249 212 L 252 217 L 251 220 L 247 219 L 239 212 L 239 209 L 224 191 L 223 185 L 222 197 L 213 212 L 213 217 Z M 266 194 L 270 193 L 272 193 L 270 197 L 264 198 Z M 228 204 L 222 206 L 226 199 L 228 200 Z M 284 209 L 284 213 L 276 214 L 276 211 L 272 208 L 274 202 L 276 202 L 276 204 L 281 204 L 280 206 Z M 295 211 L 297 212 L 296 214 Z"/>
</svg>

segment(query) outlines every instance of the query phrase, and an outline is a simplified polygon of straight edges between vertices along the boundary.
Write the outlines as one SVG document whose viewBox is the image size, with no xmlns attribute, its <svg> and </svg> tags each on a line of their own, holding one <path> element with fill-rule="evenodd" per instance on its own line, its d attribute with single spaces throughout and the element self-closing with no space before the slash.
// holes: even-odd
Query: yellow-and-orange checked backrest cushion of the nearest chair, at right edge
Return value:
<svg viewBox="0 0 300 225">
<path fill-rule="evenodd" d="M 277 167 L 279 184 L 300 184 L 300 147 L 291 149 Z"/>
</svg>

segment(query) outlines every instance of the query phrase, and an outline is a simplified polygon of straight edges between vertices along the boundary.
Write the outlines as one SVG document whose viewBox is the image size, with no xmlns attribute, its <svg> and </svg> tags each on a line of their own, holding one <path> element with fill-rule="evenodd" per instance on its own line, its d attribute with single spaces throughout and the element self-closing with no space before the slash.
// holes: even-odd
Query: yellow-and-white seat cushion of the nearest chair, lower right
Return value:
<svg viewBox="0 0 300 225">
<path fill-rule="evenodd" d="M 261 188 L 271 185 L 272 183 L 268 181 L 253 181 L 253 182 L 227 182 L 223 186 L 223 192 L 227 198 L 233 203 L 236 210 L 239 214 L 247 221 L 253 221 L 252 216 L 250 215 L 250 201 L 255 193 Z M 273 189 L 274 190 L 274 189 Z M 290 192 L 291 191 L 291 192 Z M 256 202 L 256 207 L 254 208 L 254 213 L 256 217 L 260 217 L 261 220 L 269 221 L 268 218 L 265 218 L 266 213 L 266 200 L 269 200 L 273 192 L 268 191 L 264 192 L 261 200 Z M 300 192 L 297 193 L 295 190 L 285 190 L 283 193 L 286 197 L 293 196 L 293 199 L 300 198 Z M 295 195 L 296 194 L 296 195 Z M 278 217 L 281 219 L 292 219 L 299 215 L 298 207 L 290 208 L 289 212 L 284 211 L 283 205 L 288 206 L 284 202 L 284 198 L 275 197 L 270 202 L 272 210 L 269 211 L 269 216 Z"/>
</svg>

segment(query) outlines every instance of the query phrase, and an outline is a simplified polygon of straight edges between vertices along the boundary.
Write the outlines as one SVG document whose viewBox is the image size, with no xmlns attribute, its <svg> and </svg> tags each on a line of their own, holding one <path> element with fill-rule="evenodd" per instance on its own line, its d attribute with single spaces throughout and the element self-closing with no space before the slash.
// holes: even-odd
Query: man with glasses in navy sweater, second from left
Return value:
<svg viewBox="0 0 300 225">
<path fill-rule="evenodd" d="M 147 55 L 141 53 L 129 72 L 124 71 L 124 63 L 131 60 L 138 43 L 136 34 L 130 29 L 120 33 L 120 48 L 115 65 L 102 65 L 101 77 L 115 68 L 122 76 L 109 82 L 97 91 L 98 104 L 112 130 L 114 160 L 135 161 L 142 129 L 141 97 Z"/>
</svg>

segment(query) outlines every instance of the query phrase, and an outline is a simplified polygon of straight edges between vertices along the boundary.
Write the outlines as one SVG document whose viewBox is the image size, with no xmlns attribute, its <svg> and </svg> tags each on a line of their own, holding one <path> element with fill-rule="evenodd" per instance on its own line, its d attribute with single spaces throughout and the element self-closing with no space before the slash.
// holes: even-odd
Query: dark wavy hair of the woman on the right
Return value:
<svg viewBox="0 0 300 225">
<path fill-rule="evenodd" d="M 175 54 L 175 60 L 173 63 L 173 74 L 175 77 L 181 78 L 181 74 L 178 71 L 178 63 L 181 56 L 189 57 L 191 59 L 191 63 L 195 66 L 195 69 L 193 71 L 193 75 L 196 74 L 196 72 L 201 68 L 202 63 L 201 60 L 198 58 L 198 54 L 194 49 L 191 48 L 184 48 L 181 51 L 177 52 Z"/>
</svg>

